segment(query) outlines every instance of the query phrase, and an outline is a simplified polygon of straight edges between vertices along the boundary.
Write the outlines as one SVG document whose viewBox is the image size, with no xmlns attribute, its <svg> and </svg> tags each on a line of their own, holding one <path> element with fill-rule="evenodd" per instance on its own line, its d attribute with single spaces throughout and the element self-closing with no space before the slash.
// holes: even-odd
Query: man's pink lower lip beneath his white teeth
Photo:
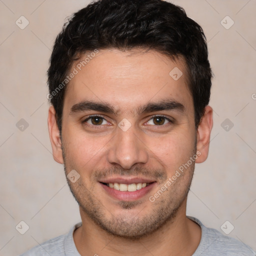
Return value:
<svg viewBox="0 0 256 256">
<path fill-rule="evenodd" d="M 155 186 L 156 182 L 152 182 L 149 185 L 132 192 L 116 190 L 100 182 L 99 184 L 110 196 L 117 200 L 134 201 L 147 194 Z"/>
</svg>

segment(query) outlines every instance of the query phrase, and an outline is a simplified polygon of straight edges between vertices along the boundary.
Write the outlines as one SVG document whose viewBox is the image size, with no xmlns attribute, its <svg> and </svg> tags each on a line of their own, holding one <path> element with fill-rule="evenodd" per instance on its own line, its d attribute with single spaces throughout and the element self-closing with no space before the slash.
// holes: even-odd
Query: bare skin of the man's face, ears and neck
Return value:
<svg viewBox="0 0 256 256">
<path fill-rule="evenodd" d="M 169 75 L 174 67 L 183 73 L 178 80 Z M 173 61 L 156 51 L 141 53 L 141 49 L 99 50 L 66 89 L 61 139 L 52 106 L 48 127 L 54 159 L 64 163 L 66 175 L 72 169 L 80 175 L 74 183 L 67 179 L 82 220 L 73 234 L 79 253 L 191 255 L 201 230 L 185 215 L 186 198 L 194 163 L 207 158 L 212 108 L 205 107 L 196 129 L 182 58 Z M 183 110 L 136 111 L 148 102 L 167 99 L 181 103 Z M 108 103 L 117 113 L 71 110 L 84 100 Z M 91 114 L 101 117 L 87 119 Z M 118 126 L 123 118 L 130 124 L 126 131 Z M 166 186 L 167 179 L 196 152 L 195 161 L 150 201 L 149 196 Z M 120 200 L 99 182 L 118 177 L 146 178 L 154 183 L 143 196 Z"/>
</svg>

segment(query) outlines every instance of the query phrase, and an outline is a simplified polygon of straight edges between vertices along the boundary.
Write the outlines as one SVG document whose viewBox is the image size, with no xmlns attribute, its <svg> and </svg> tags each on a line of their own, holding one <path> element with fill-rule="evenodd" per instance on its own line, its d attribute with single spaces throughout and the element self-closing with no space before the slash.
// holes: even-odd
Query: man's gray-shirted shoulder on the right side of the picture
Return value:
<svg viewBox="0 0 256 256">
<path fill-rule="evenodd" d="M 198 219 L 188 216 L 201 227 L 201 240 L 193 256 L 225 255 L 225 256 L 255 256 L 255 252 L 243 242 L 223 235 L 214 228 L 204 226 Z"/>
</svg>

